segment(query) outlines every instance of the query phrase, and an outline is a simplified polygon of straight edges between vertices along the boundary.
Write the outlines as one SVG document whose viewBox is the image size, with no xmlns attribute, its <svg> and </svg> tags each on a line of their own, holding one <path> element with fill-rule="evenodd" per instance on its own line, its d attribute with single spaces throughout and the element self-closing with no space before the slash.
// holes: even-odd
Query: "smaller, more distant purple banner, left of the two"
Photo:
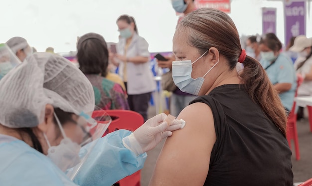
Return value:
<svg viewBox="0 0 312 186">
<path fill-rule="evenodd" d="M 262 8 L 262 34 L 276 34 L 276 8 Z"/>
</svg>

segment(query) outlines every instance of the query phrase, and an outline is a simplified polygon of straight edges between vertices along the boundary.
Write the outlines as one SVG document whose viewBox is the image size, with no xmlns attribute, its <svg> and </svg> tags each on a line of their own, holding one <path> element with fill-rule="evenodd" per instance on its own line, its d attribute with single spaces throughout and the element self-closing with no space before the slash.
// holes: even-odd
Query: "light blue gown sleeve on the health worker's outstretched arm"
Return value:
<svg viewBox="0 0 312 186">
<path fill-rule="evenodd" d="M 82 165 L 74 182 L 80 186 L 111 186 L 142 169 L 147 154 L 136 156 L 122 139 L 131 132 L 118 130 L 100 138 Z"/>
</svg>

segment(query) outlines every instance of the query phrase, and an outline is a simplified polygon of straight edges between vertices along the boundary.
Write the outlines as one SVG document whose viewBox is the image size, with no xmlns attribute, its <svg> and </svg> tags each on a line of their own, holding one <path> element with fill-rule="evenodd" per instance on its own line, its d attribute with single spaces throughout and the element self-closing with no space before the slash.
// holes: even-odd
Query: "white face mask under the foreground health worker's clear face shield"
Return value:
<svg viewBox="0 0 312 186">
<path fill-rule="evenodd" d="M 46 135 L 43 133 L 49 146 L 47 156 L 57 165 L 57 167 L 65 172 L 67 169 L 74 167 L 80 162 L 79 151 L 81 146 L 66 137 L 63 127 L 55 113 L 54 116 L 64 139 L 62 139 L 59 145 L 51 146 Z"/>
</svg>

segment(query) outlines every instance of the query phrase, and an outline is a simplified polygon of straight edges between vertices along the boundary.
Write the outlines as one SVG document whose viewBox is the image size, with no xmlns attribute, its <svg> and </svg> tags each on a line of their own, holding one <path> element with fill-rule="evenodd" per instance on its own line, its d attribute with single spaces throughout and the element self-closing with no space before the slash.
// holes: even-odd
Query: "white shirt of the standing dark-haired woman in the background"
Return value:
<svg viewBox="0 0 312 186">
<path fill-rule="evenodd" d="M 125 55 L 126 39 L 121 38 L 117 43 L 117 53 Z M 143 37 L 138 34 L 132 36 L 130 45 L 128 46 L 126 57 L 143 56 L 150 59 L 150 52 L 148 50 L 149 44 Z M 119 75 L 123 77 L 124 63 L 119 64 Z M 135 64 L 127 62 L 127 93 L 129 95 L 144 94 L 153 92 L 156 89 L 156 82 L 153 79 L 153 73 L 150 69 L 150 63 Z"/>
</svg>

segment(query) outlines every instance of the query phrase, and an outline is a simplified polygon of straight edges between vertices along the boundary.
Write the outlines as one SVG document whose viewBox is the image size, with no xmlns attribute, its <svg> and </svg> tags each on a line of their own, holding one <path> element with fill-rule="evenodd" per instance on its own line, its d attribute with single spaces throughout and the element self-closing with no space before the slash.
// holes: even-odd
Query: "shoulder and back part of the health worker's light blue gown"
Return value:
<svg viewBox="0 0 312 186">
<path fill-rule="evenodd" d="M 0 143 L 0 186 L 76 186 L 48 157 L 21 140 Z"/>
</svg>

